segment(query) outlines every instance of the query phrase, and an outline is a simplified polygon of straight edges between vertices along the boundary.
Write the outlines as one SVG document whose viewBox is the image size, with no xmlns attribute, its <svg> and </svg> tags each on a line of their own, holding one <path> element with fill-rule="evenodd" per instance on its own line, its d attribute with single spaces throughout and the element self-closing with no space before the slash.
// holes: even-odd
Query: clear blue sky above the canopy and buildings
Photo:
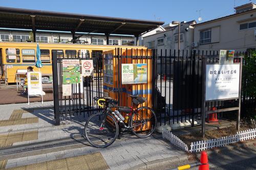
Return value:
<svg viewBox="0 0 256 170">
<path fill-rule="evenodd" d="M 1 7 L 68 12 L 121 18 L 160 20 L 170 23 L 207 21 L 234 13 L 234 6 L 256 0 L 0 0 Z"/>
</svg>

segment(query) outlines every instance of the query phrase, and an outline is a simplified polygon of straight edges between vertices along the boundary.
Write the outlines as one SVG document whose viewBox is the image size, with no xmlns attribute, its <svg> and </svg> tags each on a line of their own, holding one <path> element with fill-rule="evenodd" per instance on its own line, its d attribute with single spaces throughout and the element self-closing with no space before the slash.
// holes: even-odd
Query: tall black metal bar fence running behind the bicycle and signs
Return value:
<svg viewBox="0 0 256 170">
<path fill-rule="evenodd" d="M 158 122 L 161 125 L 174 124 L 189 121 L 192 126 L 197 120 L 201 120 L 201 96 L 202 96 L 202 59 L 207 58 L 208 63 L 218 63 L 219 54 L 215 51 L 161 51 L 157 55 L 157 50 L 142 50 L 116 48 L 113 55 L 113 63 L 116 64 L 113 80 L 114 88 L 103 86 L 102 53 L 94 53 L 87 56 L 67 55 L 52 52 L 53 60 L 53 84 L 54 84 L 54 110 L 62 115 L 90 115 L 94 111 L 99 111 L 94 105 L 94 96 L 103 96 L 103 89 L 115 92 L 115 98 L 122 106 L 127 106 L 127 100 L 123 103 L 123 98 L 129 98 L 129 94 L 140 94 L 148 98 L 153 109 L 158 115 Z M 176 55 L 178 54 L 178 55 Z M 236 53 L 234 62 L 241 62 L 241 56 L 250 55 L 246 53 Z M 72 84 L 72 95 L 62 96 L 62 60 L 79 59 L 87 60 L 94 56 L 93 76 L 83 78 L 82 85 Z M 151 84 L 136 84 L 132 90 L 128 85 L 121 83 L 121 64 L 127 63 L 147 63 L 148 75 L 152 78 Z M 243 62 L 246 64 L 246 61 Z M 113 71 L 113 70 L 112 70 Z M 255 75 L 254 75 L 255 76 Z M 255 111 L 255 97 L 247 95 L 247 78 L 242 82 L 242 111 L 243 115 L 248 107 Z M 125 92 L 125 95 L 124 95 Z M 208 102 L 207 108 L 225 108 L 237 105 L 238 101 Z M 148 105 L 148 103 L 147 103 Z M 244 109 L 246 108 L 246 109 Z M 222 113 L 218 114 L 222 117 Z M 196 121 L 196 122 L 195 122 Z M 56 123 L 59 117 L 56 116 Z"/>
</svg>

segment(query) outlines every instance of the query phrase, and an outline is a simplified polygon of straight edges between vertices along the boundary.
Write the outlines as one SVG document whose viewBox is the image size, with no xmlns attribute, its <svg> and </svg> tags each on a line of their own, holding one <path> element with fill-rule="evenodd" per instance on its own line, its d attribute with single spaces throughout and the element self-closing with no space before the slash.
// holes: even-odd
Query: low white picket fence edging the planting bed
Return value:
<svg viewBox="0 0 256 170">
<path fill-rule="evenodd" d="M 169 140 L 171 143 L 176 145 L 177 147 L 183 149 L 186 152 L 200 152 L 206 149 L 211 149 L 214 147 L 224 147 L 230 143 L 236 143 L 239 141 L 249 140 L 256 138 L 256 128 L 248 129 L 245 131 L 239 131 L 236 135 L 225 136 L 217 139 L 209 139 L 209 140 L 200 140 L 191 142 L 190 150 L 188 150 L 187 145 L 181 141 L 177 136 L 175 136 L 172 132 L 167 130 L 162 131 L 162 135 L 164 139 Z"/>
</svg>

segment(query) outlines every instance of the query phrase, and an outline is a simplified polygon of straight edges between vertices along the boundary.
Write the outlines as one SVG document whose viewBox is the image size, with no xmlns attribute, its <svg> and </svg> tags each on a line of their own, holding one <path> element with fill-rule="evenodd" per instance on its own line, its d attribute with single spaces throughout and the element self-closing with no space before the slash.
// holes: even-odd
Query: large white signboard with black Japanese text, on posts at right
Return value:
<svg viewBox="0 0 256 170">
<path fill-rule="evenodd" d="M 205 101 L 239 98 L 240 64 L 207 64 Z"/>
</svg>

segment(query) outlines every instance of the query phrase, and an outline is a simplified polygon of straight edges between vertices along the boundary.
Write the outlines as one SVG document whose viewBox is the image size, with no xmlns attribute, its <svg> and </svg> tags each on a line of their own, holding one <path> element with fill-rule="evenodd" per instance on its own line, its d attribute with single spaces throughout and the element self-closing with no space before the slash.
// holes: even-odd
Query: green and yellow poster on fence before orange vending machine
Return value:
<svg viewBox="0 0 256 170">
<path fill-rule="evenodd" d="M 122 84 L 147 83 L 147 64 L 122 64 Z"/>
</svg>

